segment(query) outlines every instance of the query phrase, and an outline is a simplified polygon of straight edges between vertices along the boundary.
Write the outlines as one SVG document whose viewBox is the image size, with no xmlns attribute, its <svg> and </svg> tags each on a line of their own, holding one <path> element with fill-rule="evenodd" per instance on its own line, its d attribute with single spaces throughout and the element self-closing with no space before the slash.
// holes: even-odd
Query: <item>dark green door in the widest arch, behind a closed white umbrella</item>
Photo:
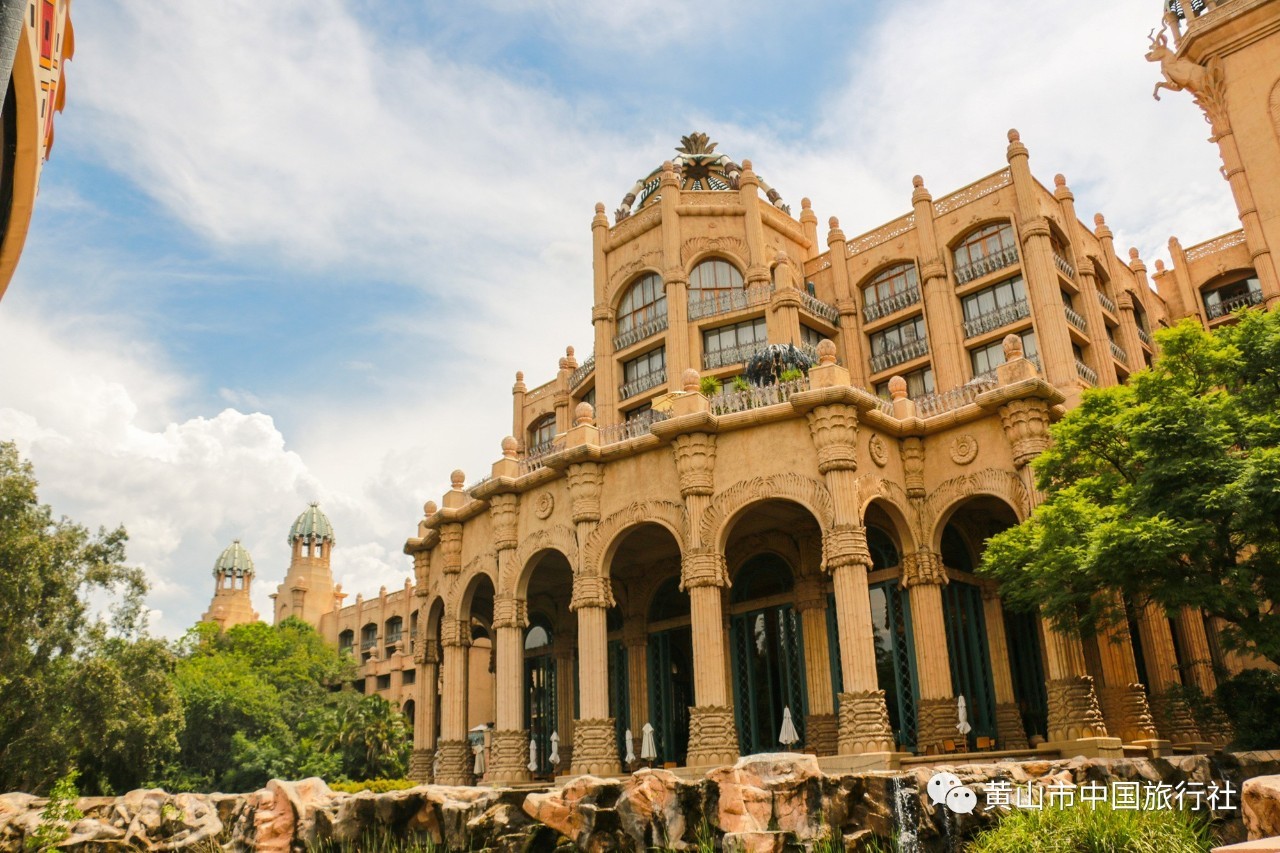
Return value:
<svg viewBox="0 0 1280 853">
<path fill-rule="evenodd" d="M 803 747 L 808 693 L 799 615 L 791 605 L 739 613 L 730 637 L 739 749 L 749 756 Z M 800 738 L 792 747 L 780 743 L 786 708 Z"/>
</svg>

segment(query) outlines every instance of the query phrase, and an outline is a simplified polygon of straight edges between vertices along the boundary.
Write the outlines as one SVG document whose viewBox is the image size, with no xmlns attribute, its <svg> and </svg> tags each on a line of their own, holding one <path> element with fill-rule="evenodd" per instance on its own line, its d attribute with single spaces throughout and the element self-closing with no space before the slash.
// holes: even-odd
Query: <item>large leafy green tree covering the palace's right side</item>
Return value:
<svg viewBox="0 0 1280 853">
<path fill-rule="evenodd" d="M 1280 313 L 1157 333 L 1161 357 L 1084 393 L 1033 467 L 1047 500 L 982 571 L 1064 630 L 1137 605 L 1201 608 L 1280 663 Z"/>
</svg>

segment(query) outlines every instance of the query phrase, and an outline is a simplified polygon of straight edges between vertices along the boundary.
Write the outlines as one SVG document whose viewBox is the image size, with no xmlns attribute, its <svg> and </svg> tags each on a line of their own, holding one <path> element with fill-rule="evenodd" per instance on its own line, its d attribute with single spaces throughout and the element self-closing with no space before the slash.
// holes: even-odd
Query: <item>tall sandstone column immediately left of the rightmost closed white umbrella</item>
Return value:
<svg viewBox="0 0 1280 853">
<path fill-rule="evenodd" d="M 911 629 L 915 635 L 915 671 L 920 684 L 915 743 L 920 752 L 942 752 L 945 740 L 955 740 L 960 722 L 951 689 L 951 656 L 942 615 L 942 588 L 947 573 L 942 557 L 932 551 L 902 556 L 902 580 L 911 599 Z"/>
</svg>

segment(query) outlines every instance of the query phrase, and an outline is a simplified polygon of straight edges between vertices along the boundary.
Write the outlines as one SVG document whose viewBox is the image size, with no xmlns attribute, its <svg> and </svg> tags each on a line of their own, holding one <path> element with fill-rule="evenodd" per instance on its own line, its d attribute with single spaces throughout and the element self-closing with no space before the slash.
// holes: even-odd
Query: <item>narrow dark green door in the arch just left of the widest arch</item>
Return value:
<svg viewBox="0 0 1280 853">
<path fill-rule="evenodd" d="M 694 703 L 694 634 L 672 628 L 649 634 L 649 724 L 658 765 L 685 763 L 689 754 L 689 706 Z M 636 756 L 641 733 L 634 731 Z"/>
</svg>

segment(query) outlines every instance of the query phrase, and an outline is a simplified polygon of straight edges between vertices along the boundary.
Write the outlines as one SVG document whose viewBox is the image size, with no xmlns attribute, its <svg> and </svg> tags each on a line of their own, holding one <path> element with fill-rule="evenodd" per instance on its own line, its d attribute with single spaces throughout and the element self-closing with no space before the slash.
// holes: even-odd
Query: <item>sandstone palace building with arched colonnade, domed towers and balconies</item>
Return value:
<svg viewBox="0 0 1280 853">
<path fill-rule="evenodd" d="M 1083 392 L 1151 364 L 1162 325 L 1280 302 L 1280 0 L 1181 0 L 1164 24 L 1148 59 L 1204 111 L 1242 229 L 1148 269 L 1011 131 L 992 174 L 904 181 L 902 215 L 851 236 L 690 134 L 596 205 L 594 352 L 516 374 L 500 459 L 454 471 L 404 546 L 413 583 L 343 606 L 311 507 L 275 617 L 362 658 L 439 783 L 1221 743 L 1180 688 L 1253 662 L 1202 613 L 1082 638 L 974 574 Z M 256 617 L 237 548 L 224 624 Z"/>
</svg>

